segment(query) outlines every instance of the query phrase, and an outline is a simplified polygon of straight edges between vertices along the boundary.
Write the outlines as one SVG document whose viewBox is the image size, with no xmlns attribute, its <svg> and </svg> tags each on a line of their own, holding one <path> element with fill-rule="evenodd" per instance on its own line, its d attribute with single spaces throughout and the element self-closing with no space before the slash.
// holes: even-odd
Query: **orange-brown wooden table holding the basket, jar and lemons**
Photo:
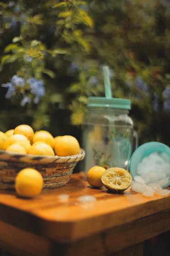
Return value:
<svg viewBox="0 0 170 256">
<path fill-rule="evenodd" d="M 82 203 L 81 195 L 97 200 Z M 93 189 L 84 173 L 34 199 L 0 190 L 0 247 L 18 256 L 142 256 L 142 242 L 168 230 L 170 196 Z"/>
</svg>

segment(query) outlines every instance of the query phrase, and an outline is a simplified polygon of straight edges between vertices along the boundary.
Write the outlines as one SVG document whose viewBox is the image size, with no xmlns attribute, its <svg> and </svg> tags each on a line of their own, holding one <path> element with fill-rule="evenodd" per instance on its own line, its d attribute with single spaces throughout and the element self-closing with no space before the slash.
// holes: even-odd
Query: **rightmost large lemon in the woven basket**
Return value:
<svg viewBox="0 0 170 256">
<path fill-rule="evenodd" d="M 76 155 L 79 150 L 79 142 L 71 135 L 64 135 L 55 140 L 54 151 L 58 156 Z"/>
</svg>

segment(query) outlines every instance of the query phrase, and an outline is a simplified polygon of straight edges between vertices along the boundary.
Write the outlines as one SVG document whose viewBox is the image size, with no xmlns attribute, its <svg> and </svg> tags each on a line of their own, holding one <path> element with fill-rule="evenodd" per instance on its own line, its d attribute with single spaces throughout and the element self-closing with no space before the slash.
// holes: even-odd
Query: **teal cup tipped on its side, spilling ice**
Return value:
<svg viewBox="0 0 170 256">
<path fill-rule="evenodd" d="M 137 174 L 137 166 L 138 164 L 142 161 L 144 157 L 147 157 L 151 153 L 158 152 L 158 153 L 165 153 L 169 159 L 170 159 L 170 147 L 167 145 L 161 143 L 161 142 L 147 142 L 139 146 L 132 154 L 130 158 L 130 163 L 129 163 L 129 171 L 130 174 L 132 175 L 132 179 L 134 180 L 134 177 Z M 170 179 L 168 184 L 163 187 L 163 189 L 167 186 L 170 185 Z"/>
</svg>

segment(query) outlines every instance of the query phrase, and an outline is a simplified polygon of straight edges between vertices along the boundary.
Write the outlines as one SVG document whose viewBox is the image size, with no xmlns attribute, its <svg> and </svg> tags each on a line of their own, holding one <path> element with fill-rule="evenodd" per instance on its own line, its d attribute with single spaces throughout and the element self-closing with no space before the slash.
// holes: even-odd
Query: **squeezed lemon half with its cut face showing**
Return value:
<svg viewBox="0 0 170 256">
<path fill-rule="evenodd" d="M 123 168 L 112 167 L 102 174 L 101 180 L 106 189 L 119 192 L 128 189 L 132 183 L 132 176 Z"/>
</svg>

